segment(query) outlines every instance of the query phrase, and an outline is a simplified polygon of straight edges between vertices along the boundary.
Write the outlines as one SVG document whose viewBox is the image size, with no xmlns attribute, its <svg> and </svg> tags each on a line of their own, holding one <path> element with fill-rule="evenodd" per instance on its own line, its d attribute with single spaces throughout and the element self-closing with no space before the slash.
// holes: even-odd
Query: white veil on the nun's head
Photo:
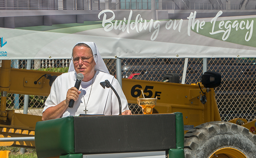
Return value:
<svg viewBox="0 0 256 158">
<path fill-rule="evenodd" d="M 94 55 L 93 56 L 94 61 L 96 63 L 95 70 L 102 71 L 102 72 L 105 72 L 105 73 L 109 74 L 107 66 L 104 63 L 104 61 L 103 61 L 103 59 L 102 59 L 102 57 L 101 57 L 101 55 L 99 53 L 99 50 L 98 50 L 96 44 L 94 42 L 77 42 L 76 44 L 78 44 L 78 43 L 85 43 L 85 44 L 90 46 L 90 48 L 92 50 L 92 54 Z M 95 54 L 97 54 L 97 55 L 95 55 Z M 74 70 L 75 70 L 74 69 L 74 64 L 73 64 L 73 61 L 71 60 L 70 64 L 69 64 L 68 72 L 74 71 Z"/>
</svg>

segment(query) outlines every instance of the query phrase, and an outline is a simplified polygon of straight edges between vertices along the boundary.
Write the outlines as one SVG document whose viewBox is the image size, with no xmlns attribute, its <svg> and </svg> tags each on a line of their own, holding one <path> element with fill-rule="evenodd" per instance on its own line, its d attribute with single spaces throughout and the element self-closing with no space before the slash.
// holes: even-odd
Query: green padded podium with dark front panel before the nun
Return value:
<svg viewBox="0 0 256 158">
<path fill-rule="evenodd" d="M 154 155 L 153 151 L 162 151 L 165 157 L 183 158 L 183 116 L 182 113 L 69 116 L 40 121 L 36 124 L 35 145 L 38 158 L 145 152 Z"/>
</svg>

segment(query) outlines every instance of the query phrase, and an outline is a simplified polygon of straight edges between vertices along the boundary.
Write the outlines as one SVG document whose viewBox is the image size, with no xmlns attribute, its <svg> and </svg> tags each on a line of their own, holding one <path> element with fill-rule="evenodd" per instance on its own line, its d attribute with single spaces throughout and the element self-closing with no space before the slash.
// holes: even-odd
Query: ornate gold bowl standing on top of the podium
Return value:
<svg viewBox="0 0 256 158">
<path fill-rule="evenodd" d="M 152 114 L 153 108 L 157 105 L 157 97 L 145 98 L 142 90 L 141 92 L 143 98 L 140 99 L 139 97 L 137 97 L 137 103 L 140 107 L 142 107 L 143 114 Z"/>
</svg>

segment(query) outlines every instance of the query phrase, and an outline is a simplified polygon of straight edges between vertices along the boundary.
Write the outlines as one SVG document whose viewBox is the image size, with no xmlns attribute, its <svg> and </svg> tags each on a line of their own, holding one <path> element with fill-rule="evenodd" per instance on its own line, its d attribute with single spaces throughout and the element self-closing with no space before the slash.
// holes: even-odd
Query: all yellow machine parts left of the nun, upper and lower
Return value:
<svg viewBox="0 0 256 158">
<path fill-rule="evenodd" d="M 0 137 L 34 136 L 36 122 L 41 121 L 41 116 L 17 114 L 14 110 L 6 110 L 7 93 L 48 96 L 51 87 L 44 74 L 59 76 L 62 73 L 14 69 L 11 68 L 11 60 L 2 60 L 0 68 Z M 35 147 L 35 141 L 0 142 L 0 146 Z"/>
</svg>

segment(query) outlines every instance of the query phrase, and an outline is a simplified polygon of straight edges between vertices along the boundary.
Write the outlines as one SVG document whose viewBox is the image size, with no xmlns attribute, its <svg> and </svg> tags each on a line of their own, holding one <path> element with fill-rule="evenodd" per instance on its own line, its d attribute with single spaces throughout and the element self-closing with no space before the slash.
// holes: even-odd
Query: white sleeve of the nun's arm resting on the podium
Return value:
<svg viewBox="0 0 256 158">
<path fill-rule="evenodd" d="M 126 97 L 123 93 L 123 90 L 122 90 L 119 82 L 117 81 L 117 79 L 114 78 L 111 85 L 114 87 L 114 89 L 116 90 L 117 94 L 120 97 L 121 106 L 122 106 L 121 112 L 124 112 L 125 110 L 129 110 L 127 99 L 126 99 Z M 111 90 L 111 105 L 112 105 L 112 115 L 119 115 L 118 99 L 117 99 L 114 91 L 112 91 L 112 90 Z"/>
</svg>

